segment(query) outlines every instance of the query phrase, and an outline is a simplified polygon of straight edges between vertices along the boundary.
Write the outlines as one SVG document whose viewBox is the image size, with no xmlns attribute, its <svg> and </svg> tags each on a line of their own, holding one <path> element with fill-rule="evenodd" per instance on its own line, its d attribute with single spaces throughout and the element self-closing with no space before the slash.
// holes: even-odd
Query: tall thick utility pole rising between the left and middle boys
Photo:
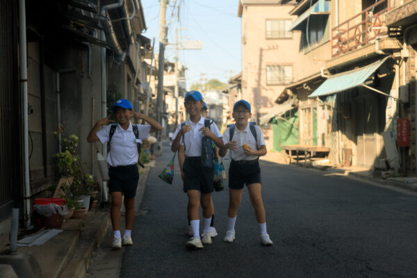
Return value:
<svg viewBox="0 0 417 278">
<path fill-rule="evenodd" d="M 165 13 L 167 10 L 167 4 L 169 0 L 160 1 L 160 10 L 159 10 L 159 56 L 158 56 L 158 95 L 156 97 L 156 119 L 161 124 L 162 123 L 162 113 L 163 113 L 163 70 L 165 68 L 164 61 L 164 52 L 165 44 L 167 43 L 167 26 L 165 25 Z M 158 131 L 158 154 L 162 152 L 162 131 Z"/>
</svg>

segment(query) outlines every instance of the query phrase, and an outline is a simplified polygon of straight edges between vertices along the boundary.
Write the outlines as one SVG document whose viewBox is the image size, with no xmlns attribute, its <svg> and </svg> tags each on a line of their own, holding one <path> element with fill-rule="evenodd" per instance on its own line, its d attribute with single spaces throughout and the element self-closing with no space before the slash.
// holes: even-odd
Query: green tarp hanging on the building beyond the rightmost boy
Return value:
<svg viewBox="0 0 417 278">
<path fill-rule="evenodd" d="M 297 145 L 298 142 L 298 112 L 297 109 L 288 111 L 282 117 L 272 120 L 274 145 L 272 152 L 281 152 L 281 145 Z"/>
</svg>

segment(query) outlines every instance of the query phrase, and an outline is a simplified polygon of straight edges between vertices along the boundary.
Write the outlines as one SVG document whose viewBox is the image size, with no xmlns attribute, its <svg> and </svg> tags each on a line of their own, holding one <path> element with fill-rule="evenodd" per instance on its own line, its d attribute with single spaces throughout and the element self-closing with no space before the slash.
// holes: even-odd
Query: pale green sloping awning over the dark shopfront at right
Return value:
<svg viewBox="0 0 417 278">
<path fill-rule="evenodd" d="M 381 65 L 388 59 L 385 57 L 375 63 L 367 65 L 366 67 L 360 67 L 356 70 L 350 70 L 349 72 L 342 72 L 341 74 L 334 74 L 330 76 L 325 82 L 322 83 L 309 97 L 323 97 L 326 95 L 332 95 L 337 92 L 342 92 L 347 89 L 363 85 L 366 88 L 370 88 L 368 85 L 363 84 L 368 77 L 375 72 Z M 373 89 L 370 89 L 373 90 Z M 376 89 L 374 89 L 376 90 Z M 381 93 L 381 92 L 380 92 Z M 383 93 L 383 95 L 386 95 Z"/>
</svg>

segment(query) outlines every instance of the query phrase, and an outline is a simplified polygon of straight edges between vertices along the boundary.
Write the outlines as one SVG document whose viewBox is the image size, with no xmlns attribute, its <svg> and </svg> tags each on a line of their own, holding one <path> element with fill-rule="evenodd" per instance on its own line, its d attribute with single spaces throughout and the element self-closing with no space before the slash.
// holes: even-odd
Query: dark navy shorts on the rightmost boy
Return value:
<svg viewBox="0 0 417 278">
<path fill-rule="evenodd" d="M 229 166 L 229 188 L 242 189 L 252 183 L 261 183 L 259 161 L 231 161 Z"/>
</svg>

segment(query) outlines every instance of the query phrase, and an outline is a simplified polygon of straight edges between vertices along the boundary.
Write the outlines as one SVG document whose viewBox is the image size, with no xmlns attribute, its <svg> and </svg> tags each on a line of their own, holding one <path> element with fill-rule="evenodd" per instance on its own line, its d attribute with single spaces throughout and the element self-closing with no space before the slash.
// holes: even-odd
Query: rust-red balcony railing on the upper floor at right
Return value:
<svg viewBox="0 0 417 278">
<path fill-rule="evenodd" d="M 377 1 L 361 13 L 332 28 L 332 57 L 362 47 L 378 36 L 386 35 L 388 29 L 384 26 L 384 14 L 389 8 L 389 0 Z"/>
</svg>

